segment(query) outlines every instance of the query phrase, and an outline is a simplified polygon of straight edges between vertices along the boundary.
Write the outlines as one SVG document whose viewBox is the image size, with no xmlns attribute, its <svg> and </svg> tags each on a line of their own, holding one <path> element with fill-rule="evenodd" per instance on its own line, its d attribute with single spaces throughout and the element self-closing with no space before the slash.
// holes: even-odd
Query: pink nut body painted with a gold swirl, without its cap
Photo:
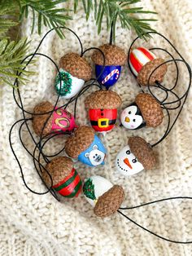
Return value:
<svg viewBox="0 0 192 256">
<path fill-rule="evenodd" d="M 72 131 L 76 128 L 75 118 L 67 110 L 59 108 L 53 113 L 53 131 Z"/>
</svg>

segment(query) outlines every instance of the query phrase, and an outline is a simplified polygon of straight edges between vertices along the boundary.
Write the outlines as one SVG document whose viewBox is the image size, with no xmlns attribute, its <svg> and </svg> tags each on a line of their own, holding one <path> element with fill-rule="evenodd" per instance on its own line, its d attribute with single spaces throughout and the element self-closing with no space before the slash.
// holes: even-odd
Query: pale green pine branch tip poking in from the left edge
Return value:
<svg viewBox="0 0 192 256">
<path fill-rule="evenodd" d="M 16 75 L 17 71 L 22 71 L 22 76 L 18 77 L 20 82 L 27 80 L 24 75 L 29 75 L 31 72 L 22 70 L 25 62 L 21 64 L 27 50 L 28 42 L 26 39 L 10 42 L 5 38 L 0 41 L 0 82 L 5 82 L 12 86 L 12 79 L 18 77 Z"/>
</svg>

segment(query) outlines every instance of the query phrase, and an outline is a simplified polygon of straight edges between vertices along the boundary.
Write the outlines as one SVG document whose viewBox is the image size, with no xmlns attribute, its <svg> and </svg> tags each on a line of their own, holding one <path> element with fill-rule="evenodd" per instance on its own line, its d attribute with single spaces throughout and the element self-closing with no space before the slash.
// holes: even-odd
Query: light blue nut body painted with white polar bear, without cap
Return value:
<svg viewBox="0 0 192 256">
<path fill-rule="evenodd" d="M 81 152 L 78 156 L 78 160 L 88 166 L 104 165 L 106 152 L 106 148 L 104 148 L 102 141 L 98 139 L 97 135 L 94 135 L 93 143 L 91 143 L 89 148 L 84 152 Z"/>
</svg>

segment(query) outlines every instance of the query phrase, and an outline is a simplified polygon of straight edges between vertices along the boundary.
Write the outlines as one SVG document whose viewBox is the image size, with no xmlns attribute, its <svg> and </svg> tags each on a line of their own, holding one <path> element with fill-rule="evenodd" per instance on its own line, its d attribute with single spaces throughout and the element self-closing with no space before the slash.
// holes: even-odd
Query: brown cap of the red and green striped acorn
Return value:
<svg viewBox="0 0 192 256">
<path fill-rule="evenodd" d="M 46 170 L 49 172 L 51 178 L 53 179 L 53 186 L 67 178 L 68 175 L 72 172 L 72 168 L 72 159 L 68 157 L 56 157 L 46 165 Z M 45 181 L 46 185 L 50 187 L 51 179 L 46 170 L 44 170 L 42 173 L 42 179 Z"/>
</svg>

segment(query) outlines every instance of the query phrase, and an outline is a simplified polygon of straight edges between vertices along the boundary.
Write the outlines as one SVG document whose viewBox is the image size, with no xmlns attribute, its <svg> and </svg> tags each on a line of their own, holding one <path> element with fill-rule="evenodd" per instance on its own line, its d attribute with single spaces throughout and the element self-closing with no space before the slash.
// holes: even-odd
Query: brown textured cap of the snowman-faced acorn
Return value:
<svg viewBox="0 0 192 256">
<path fill-rule="evenodd" d="M 149 143 L 146 143 L 145 139 L 134 136 L 129 138 L 128 141 L 131 152 L 137 157 L 138 161 L 142 163 L 142 166 L 146 169 L 152 169 L 156 164 L 155 153 Z"/>
</svg>

